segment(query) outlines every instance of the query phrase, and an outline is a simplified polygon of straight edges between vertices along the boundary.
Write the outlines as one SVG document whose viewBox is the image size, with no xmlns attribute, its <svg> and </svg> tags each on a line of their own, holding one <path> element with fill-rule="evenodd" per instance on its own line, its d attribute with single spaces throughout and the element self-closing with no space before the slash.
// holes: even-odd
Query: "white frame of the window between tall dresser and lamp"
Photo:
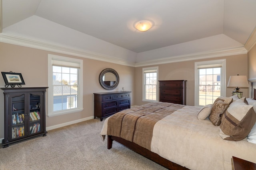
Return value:
<svg viewBox="0 0 256 170">
<path fill-rule="evenodd" d="M 198 100 L 199 100 L 199 71 L 198 68 L 213 68 L 216 66 L 222 67 L 221 69 L 221 84 L 220 84 L 220 96 L 226 96 L 226 59 L 220 59 L 220 60 L 211 60 L 211 61 L 201 61 L 201 62 L 195 62 L 195 101 L 194 105 L 199 106 Z"/>
</svg>

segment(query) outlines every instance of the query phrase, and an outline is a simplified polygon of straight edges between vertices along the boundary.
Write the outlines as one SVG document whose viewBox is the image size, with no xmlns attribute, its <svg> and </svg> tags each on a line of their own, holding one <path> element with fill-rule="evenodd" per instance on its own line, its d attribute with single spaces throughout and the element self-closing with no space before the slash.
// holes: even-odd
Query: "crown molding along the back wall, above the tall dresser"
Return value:
<svg viewBox="0 0 256 170">
<path fill-rule="evenodd" d="M 240 55 L 240 54 L 247 54 L 247 52 L 248 51 L 244 47 L 239 47 L 235 49 L 209 51 L 205 53 L 179 55 L 174 57 L 167 57 L 164 59 L 150 60 L 144 63 L 136 63 L 135 67 L 150 66 L 150 65 L 156 65 L 156 64 L 177 63 L 182 61 L 192 61 L 192 60 L 199 60 L 199 59 L 210 59 L 210 58 L 224 57 L 224 56 L 230 56 L 230 55 Z"/>
</svg>

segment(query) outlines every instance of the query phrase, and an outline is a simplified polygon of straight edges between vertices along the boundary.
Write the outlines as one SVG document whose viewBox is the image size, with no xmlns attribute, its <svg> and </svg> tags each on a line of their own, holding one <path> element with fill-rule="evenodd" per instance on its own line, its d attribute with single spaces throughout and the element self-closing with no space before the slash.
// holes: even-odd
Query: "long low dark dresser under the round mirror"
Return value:
<svg viewBox="0 0 256 170">
<path fill-rule="evenodd" d="M 94 119 L 108 117 L 118 111 L 131 108 L 131 92 L 94 93 Z"/>
</svg>

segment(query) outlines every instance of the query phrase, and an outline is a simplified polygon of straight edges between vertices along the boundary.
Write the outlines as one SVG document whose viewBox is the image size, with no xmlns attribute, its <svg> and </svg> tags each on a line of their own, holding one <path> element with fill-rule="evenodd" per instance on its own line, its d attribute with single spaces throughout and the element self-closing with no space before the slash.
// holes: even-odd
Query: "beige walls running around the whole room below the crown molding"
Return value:
<svg viewBox="0 0 256 170">
<path fill-rule="evenodd" d="M 83 72 L 83 102 L 84 110 L 78 113 L 71 113 L 61 116 L 46 116 L 46 127 L 59 125 L 62 123 L 76 121 L 94 115 L 94 96 L 95 92 L 108 92 L 103 89 L 98 81 L 100 72 L 105 68 L 115 69 L 120 76 L 120 83 L 115 90 L 120 91 L 122 87 L 125 90 L 132 91 L 131 105 L 142 105 L 142 67 L 130 67 L 119 64 L 107 63 L 74 57 L 60 53 L 32 49 L 18 45 L 0 43 L 0 70 L 3 72 L 20 72 L 24 78 L 26 85 L 32 86 L 48 86 L 48 54 L 61 55 L 64 57 L 73 57 L 84 61 Z M 226 59 L 226 84 L 231 75 L 246 75 L 248 78 L 256 78 L 256 46 L 247 54 L 234 55 L 228 57 L 218 57 L 212 59 L 186 61 L 180 63 L 159 64 L 159 80 L 188 80 L 187 81 L 187 105 L 194 105 L 194 62 L 209 61 L 216 59 Z M 151 67 L 151 66 L 144 66 Z M 0 78 L 0 86 L 4 87 L 4 80 Z M 226 96 L 231 96 L 232 88 L 226 88 Z M 248 96 L 249 89 L 242 89 L 244 96 Z M 46 93 L 47 97 L 47 93 Z M 46 99 L 47 103 L 47 99 Z M 47 113 L 46 113 L 47 115 Z M 0 97 L 0 139 L 4 137 L 4 97 Z"/>
</svg>

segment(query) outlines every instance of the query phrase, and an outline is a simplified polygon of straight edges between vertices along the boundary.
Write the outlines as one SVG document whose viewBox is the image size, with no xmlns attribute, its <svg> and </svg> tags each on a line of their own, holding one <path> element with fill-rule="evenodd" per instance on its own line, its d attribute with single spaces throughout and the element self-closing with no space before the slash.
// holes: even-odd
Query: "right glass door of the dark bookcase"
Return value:
<svg viewBox="0 0 256 170">
<path fill-rule="evenodd" d="M 42 101 L 42 93 L 33 92 L 28 94 L 28 102 L 29 102 L 29 115 L 28 115 L 28 126 L 29 133 L 28 135 L 32 135 L 34 133 L 41 132 L 41 101 Z"/>
</svg>

